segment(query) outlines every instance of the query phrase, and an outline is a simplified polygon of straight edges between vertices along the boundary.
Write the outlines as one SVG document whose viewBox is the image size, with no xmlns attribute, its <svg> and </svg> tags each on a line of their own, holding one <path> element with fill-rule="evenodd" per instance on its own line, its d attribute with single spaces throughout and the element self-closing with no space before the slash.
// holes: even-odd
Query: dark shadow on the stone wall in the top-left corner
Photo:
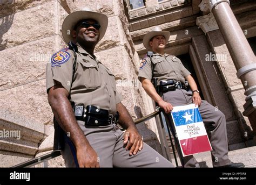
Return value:
<svg viewBox="0 0 256 185">
<path fill-rule="evenodd" d="M 14 0 L 11 1 L 7 1 L 8 4 L 12 4 L 14 3 Z M 5 4 L 4 2 L 1 3 L 0 5 L 0 12 L 3 12 L 3 9 L 5 8 Z M 12 11 L 11 12 L 15 12 L 15 6 L 12 7 Z M 12 13 L 9 16 L 3 16 L 0 17 L 0 51 L 4 50 L 6 48 L 6 45 L 8 43 L 8 39 L 4 39 L 3 40 L 3 35 L 8 32 L 8 30 L 10 29 L 12 22 L 14 20 L 14 13 Z"/>
</svg>

